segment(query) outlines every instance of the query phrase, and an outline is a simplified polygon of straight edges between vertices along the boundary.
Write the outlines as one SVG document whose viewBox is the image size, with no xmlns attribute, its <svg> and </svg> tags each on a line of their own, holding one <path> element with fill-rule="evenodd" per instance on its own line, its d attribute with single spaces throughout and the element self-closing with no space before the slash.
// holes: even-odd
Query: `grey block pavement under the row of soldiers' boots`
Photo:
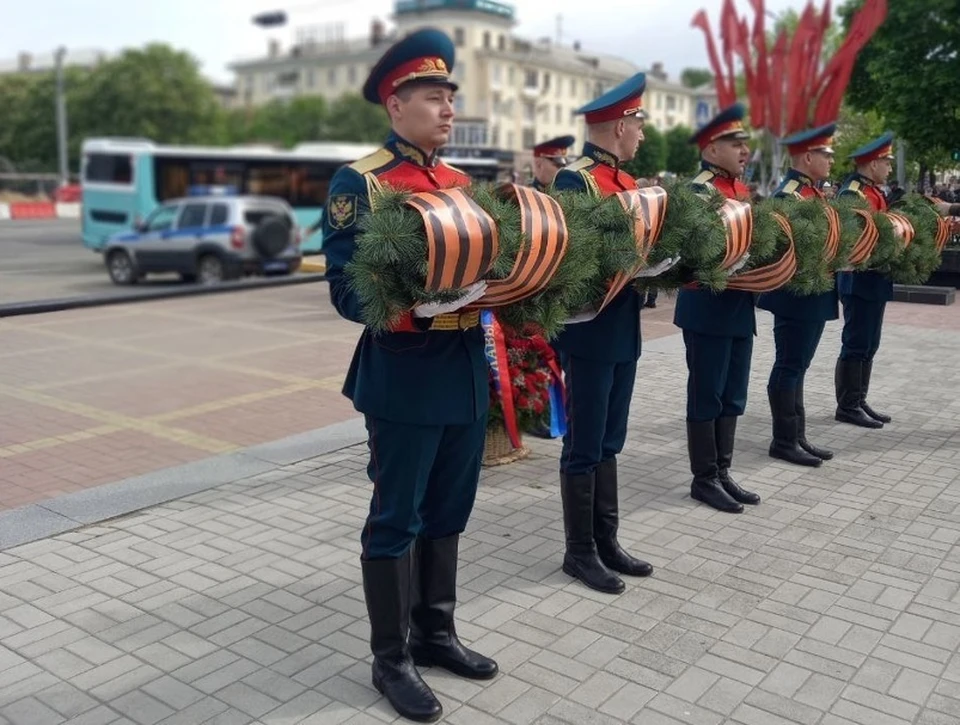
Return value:
<svg viewBox="0 0 960 725">
<path fill-rule="evenodd" d="M 484 472 L 461 636 L 497 658 L 425 679 L 453 725 L 947 725 L 960 720 L 960 325 L 888 325 L 871 399 L 832 421 L 832 323 L 808 374 L 820 469 L 766 456 L 760 317 L 740 516 L 687 496 L 677 337 L 645 353 L 621 540 L 656 565 L 612 597 L 559 570 L 554 441 Z M 391 722 L 370 684 L 352 447 L 0 552 L 0 725 Z"/>
</svg>

